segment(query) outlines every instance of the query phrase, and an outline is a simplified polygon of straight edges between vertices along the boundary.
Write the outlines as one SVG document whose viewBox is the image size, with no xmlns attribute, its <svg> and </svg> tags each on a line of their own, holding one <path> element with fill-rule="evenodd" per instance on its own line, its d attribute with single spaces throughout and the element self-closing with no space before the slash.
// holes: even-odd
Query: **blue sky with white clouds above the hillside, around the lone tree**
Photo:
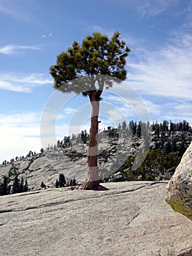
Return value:
<svg viewBox="0 0 192 256">
<path fill-rule="evenodd" d="M 0 162 L 40 150 L 42 113 L 55 93 L 49 67 L 74 40 L 94 31 L 109 37 L 121 31 L 131 48 L 126 83 L 145 102 L 150 121 L 192 124 L 192 1 L 0 0 L 0 28 Z M 81 97 L 64 100 L 57 138 L 89 108 Z M 103 126 L 138 118 L 112 95 L 104 100 Z M 88 128 L 89 114 L 74 131 Z"/>
</svg>

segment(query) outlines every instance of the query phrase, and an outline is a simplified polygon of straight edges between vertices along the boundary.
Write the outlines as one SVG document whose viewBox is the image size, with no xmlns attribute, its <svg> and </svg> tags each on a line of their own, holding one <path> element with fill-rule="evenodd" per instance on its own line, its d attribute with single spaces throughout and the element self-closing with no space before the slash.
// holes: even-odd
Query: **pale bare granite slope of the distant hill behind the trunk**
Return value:
<svg viewBox="0 0 192 256">
<path fill-rule="evenodd" d="M 123 139 L 118 143 L 123 144 Z M 129 140 L 126 140 L 129 141 Z M 117 141 L 115 140 L 117 144 Z M 129 143 L 120 148 L 115 154 L 116 148 L 114 138 L 104 138 L 99 141 L 99 172 L 101 178 L 107 178 L 115 173 L 118 167 L 123 165 L 126 160 Z M 40 189 L 42 182 L 46 187 L 55 187 L 55 181 L 60 173 L 64 173 L 66 182 L 75 178 L 77 183 L 82 184 L 88 177 L 88 144 L 74 143 L 67 148 L 51 148 L 42 154 L 26 157 L 24 159 L 0 165 L 0 181 L 3 176 L 11 176 L 12 180 L 15 175 L 19 179 L 22 177 L 27 180 L 30 190 Z M 117 157 L 118 154 L 118 157 Z M 118 158 L 118 160 L 115 158 Z M 12 185 L 12 183 L 11 183 Z"/>
</svg>

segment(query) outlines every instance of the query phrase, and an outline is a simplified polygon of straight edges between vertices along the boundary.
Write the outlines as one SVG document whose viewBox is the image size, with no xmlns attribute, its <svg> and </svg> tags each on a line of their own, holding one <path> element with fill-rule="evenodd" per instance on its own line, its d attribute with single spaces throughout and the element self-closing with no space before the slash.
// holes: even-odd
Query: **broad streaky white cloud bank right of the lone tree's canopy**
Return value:
<svg viewBox="0 0 192 256">
<path fill-rule="evenodd" d="M 128 83 L 147 99 L 152 119 L 192 121 L 191 33 L 181 26 L 161 48 L 143 51 L 128 61 Z"/>
</svg>

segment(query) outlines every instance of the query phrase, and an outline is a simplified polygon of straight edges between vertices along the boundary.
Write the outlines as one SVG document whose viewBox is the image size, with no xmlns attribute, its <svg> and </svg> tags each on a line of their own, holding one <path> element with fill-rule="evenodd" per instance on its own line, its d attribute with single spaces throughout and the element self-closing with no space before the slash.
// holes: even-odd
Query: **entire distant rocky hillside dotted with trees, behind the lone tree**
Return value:
<svg viewBox="0 0 192 256">
<path fill-rule="evenodd" d="M 87 178 L 88 140 L 88 133 L 82 131 L 42 148 L 39 154 L 29 151 L 26 157 L 5 160 L 0 165 L 1 195 L 41 189 L 42 182 L 55 187 L 60 174 L 68 185 L 82 184 Z M 186 121 L 169 125 L 167 121 L 151 125 L 130 121 L 118 128 L 107 127 L 99 133 L 101 181 L 169 180 L 191 140 L 192 130 Z M 147 157 L 139 165 L 145 151 Z"/>
</svg>

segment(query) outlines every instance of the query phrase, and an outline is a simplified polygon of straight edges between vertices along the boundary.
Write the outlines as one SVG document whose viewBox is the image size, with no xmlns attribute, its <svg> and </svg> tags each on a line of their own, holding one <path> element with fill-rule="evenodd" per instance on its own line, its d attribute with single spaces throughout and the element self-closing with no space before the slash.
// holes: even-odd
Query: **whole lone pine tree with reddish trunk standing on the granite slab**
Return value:
<svg viewBox="0 0 192 256">
<path fill-rule="evenodd" d="M 72 47 L 58 55 L 57 63 L 50 67 L 55 89 L 64 93 L 73 91 L 75 94 L 82 94 L 91 102 L 89 168 L 85 189 L 101 189 L 97 163 L 99 102 L 104 88 L 112 86 L 113 80 L 120 83 L 126 79 L 126 57 L 129 51 L 126 42 L 120 39 L 119 31 L 111 39 L 106 35 L 93 33 L 93 36 L 85 37 L 81 45 L 74 41 Z"/>
</svg>

